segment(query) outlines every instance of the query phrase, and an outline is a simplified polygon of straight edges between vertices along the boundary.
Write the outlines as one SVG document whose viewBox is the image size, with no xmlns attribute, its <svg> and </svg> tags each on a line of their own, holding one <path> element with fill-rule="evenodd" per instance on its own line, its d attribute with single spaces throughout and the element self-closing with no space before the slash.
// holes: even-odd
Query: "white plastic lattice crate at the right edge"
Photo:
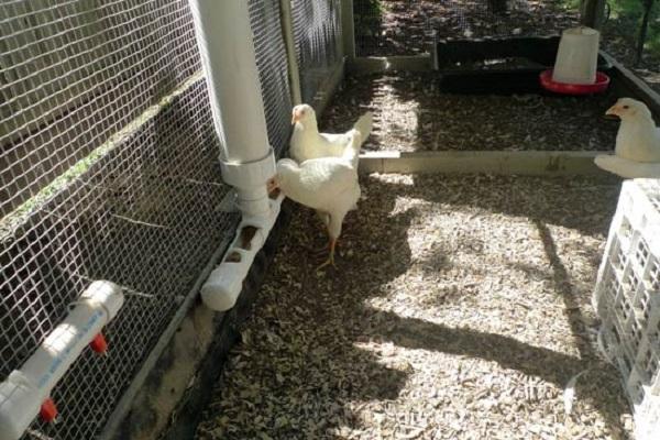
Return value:
<svg viewBox="0 0 660 440">
<path fill-rule="evenodd" d="M 624 183 L 598 271 L 601 348 L 634 406 L 638 440 L 660 431 L 660 179 Z M 651 436 L 654 435 L 654 436 Z"/>
</svg>

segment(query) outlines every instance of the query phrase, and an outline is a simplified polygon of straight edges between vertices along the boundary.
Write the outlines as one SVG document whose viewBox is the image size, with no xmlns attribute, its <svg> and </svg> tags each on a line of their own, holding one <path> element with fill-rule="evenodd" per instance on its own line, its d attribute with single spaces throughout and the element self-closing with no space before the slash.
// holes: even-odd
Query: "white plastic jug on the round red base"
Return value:
<svg viewBox="0 0 660 440">
<path fill-rule="evenodd" d="M 600 38 L 601 34 L 595 29 L 580 26 L 564 30 L 559 41 L 552 80 L 595 84 Z"/>
</svg>

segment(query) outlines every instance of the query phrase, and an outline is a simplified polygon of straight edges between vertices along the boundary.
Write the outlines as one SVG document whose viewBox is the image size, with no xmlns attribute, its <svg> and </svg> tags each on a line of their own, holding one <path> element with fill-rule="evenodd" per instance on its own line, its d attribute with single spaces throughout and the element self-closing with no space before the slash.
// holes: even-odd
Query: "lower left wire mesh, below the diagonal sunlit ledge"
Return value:
<svg viewBox="0 0 660 440">
<path fill-rule="evenodd" d="M 34 429 L 94 438 L 234 217 L 217 211 L 218 145 L 198 80 L 40 207 L 1 245 L 1 373 L 18 367 L 91 279 L 128 289 L 107 329 L 55 388 L 62 422 Z"/>
</svg>

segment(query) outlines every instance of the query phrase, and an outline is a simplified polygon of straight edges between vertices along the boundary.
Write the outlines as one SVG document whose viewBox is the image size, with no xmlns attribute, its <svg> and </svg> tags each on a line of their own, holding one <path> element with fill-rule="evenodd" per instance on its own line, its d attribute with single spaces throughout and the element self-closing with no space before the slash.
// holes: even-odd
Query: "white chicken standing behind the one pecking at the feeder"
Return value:
<svg viewBox="0 0 660 440">
<path fill-rule="evenodd" d="M 352 130 L 360 132 L 360 145 L 366 140 L 372 131 L 373 113 L 364 113 L 353 129 L 346 133 L 319 133 L 316 112 L 306 103 L 294 107 L 292 123 L 295 124 L 294 133 L 289 144 L 289 155 L 297 163 L 310 158 L 340 157 L 346 146 L 353 141 Z M 359 156 L 355 156 L 356 163 Z"/>
</svg>

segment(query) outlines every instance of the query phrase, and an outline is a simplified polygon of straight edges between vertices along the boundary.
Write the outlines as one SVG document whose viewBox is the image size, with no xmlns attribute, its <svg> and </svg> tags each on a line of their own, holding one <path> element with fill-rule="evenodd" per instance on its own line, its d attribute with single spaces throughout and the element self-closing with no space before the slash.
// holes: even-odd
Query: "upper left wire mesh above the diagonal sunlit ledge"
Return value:
<svg viewBox="0 0 660 440">
<path fill-rule="evenodd" d="M 0 18 L 0 215 L 199 69 L 185 1 L 3 1 Z"/>
</svg>

